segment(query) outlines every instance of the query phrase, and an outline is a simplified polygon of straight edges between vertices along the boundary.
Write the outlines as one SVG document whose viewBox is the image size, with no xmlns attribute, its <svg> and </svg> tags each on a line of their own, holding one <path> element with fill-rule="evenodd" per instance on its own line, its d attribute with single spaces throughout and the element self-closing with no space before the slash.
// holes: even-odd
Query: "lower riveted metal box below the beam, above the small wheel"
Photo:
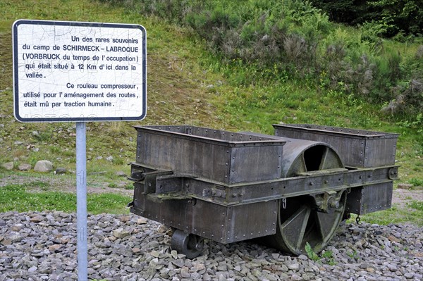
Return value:
<svg viewBox="0 0 423 281">
<path fill-rule="evenodd" d="M 135 183 L 130 211 L 185 232 L 222 243 L 276 232 L 276 200 L 228 207 L 198 199 L 160 200 L 144 189 Z"/>
</svg>

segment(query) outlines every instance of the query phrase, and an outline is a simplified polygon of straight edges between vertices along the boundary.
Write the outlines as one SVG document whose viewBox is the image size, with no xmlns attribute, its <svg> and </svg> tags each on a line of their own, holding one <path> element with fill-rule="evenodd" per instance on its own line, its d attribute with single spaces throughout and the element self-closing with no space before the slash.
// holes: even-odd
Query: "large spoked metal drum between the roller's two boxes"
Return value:
<svg viewBox="0 0 423 281">
<path fill-rule="evenodd" d="M 288 139 L 283 148 L 281 177 L 297 177 L 314 171 L 330 173 L 343 168 L 336 151 L 323 142 Z M 276 234 L 264 237 L 266 244 L 292 254 L 303 254 L 308 242 L 314 251 L 321 251 L 331 240 L 343 218 L 344 190 L 281 199 Z M 319 204 L 326 201 L 326 208 Z"/>
</svg>

